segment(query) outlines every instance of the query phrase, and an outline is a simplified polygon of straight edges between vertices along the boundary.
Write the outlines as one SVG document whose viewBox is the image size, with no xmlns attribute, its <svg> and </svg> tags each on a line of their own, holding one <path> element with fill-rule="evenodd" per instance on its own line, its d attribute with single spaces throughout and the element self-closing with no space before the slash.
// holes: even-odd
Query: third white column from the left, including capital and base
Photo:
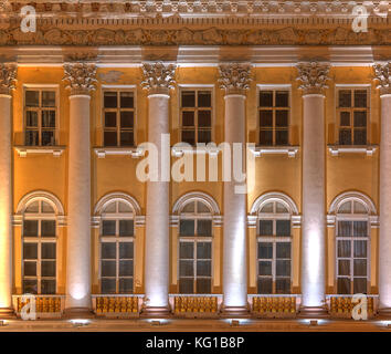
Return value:
<svg viewBox="0 0 391 354">
<path fill-rule="evenodd" d="M 173 84 L 173 65 L 144 64 L 142 85 L 149 90 L 148 143 L 158 150 L 160 169 L 158 180 L 147 181 L 144 314 L 151 316 L 169 312 L 170 185 L 167 177 L 170 171 L 170 149 L 165 149 L 162 134 L 169 134 L 169 88 Z"/>
</svg>

